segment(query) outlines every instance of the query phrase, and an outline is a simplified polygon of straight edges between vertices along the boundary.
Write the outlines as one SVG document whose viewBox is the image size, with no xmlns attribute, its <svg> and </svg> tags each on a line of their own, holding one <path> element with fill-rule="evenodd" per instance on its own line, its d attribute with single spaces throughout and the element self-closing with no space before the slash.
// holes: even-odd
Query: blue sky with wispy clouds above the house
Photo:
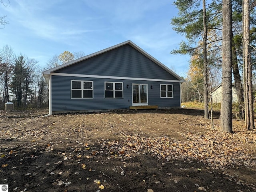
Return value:
<svg viewBox="0 0 256 192">
<path fill-rule="evenodd" d="M 7 0 L 3 0 L 4 2 Z M 172 55 L 183 37 L 170 20 L 178 10 L 172 0 L 10 0 L 0 5 L 7 24 L 0 46 L 45 63 L 65 50 L 86 55 L 131 40 L 180 76 L 188 56 Z"/>
</svg>

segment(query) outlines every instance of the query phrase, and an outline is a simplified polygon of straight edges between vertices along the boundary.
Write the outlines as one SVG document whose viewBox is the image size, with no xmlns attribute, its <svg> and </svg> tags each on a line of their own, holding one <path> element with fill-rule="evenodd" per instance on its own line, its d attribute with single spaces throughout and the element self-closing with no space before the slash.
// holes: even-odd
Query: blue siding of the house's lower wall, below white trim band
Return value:
<svg viewBox="0 0 256 192">
<path fill-rule="evenodd" d="M 71 80 L 88 80 L 94 83 L 93 99 L 71 99 Z M 123 82 L 124 98 L 104 98 L 104 82 Z M 127 84 L 129 88 L 127 88 Z M 148 105 L 159 108 L 180 107 L 179 82 L 82 78 L 52 76 L 52 111 L 128 109 L 132 106 L 132 84 L 148 84 Z M 174 98 L 160 98 L 160 84 L 172 84 Z M 153 86 L 153 89 L 150 87 Z"/>
</svg>

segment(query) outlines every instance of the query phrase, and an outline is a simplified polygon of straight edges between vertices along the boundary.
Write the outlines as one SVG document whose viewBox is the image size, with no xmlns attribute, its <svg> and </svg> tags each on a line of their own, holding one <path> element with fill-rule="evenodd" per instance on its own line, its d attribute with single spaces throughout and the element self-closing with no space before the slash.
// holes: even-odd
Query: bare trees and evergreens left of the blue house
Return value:
<svg viewBox="0 0 256 192">
<path fill-rule="evenodd" d="M 42 72 L 84 56 L 84 52 L 64 51 L 42 67 L 34 58 L 16 55 L 11 46 L 0 49 L 0 108 L 13 102 L 17 109 L 48 107 L 48 86 Z"/>
</svg>

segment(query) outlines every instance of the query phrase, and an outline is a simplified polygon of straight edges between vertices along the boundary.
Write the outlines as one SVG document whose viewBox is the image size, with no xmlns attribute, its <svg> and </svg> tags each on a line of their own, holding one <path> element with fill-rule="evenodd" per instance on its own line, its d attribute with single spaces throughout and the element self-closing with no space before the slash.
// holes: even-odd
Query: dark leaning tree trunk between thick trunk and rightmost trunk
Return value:
<svg viewBox="0 0 256 192">
<path fill-rule="evenodd" d="M 236 48 L 234 46 L 233 32 L 232 32 L 232 71 L 233 71 L 236 94 L 237 94 L 239 117 L 242 118 L 244 95 L 243 95 L 243 87 L 242 87 L 242 82 L 241 82 L 241 76 L 240 76 L 240 72 L 239 72 L 239 68 L 238 68 Z"/>
</svg>

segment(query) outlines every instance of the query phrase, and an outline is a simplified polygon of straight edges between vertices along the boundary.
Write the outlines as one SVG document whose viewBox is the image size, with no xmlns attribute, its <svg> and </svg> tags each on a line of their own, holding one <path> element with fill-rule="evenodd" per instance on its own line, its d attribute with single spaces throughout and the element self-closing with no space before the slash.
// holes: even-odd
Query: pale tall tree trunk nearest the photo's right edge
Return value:
<svg viewBox="0 0 256 192">
<path fill-rule="evenodd" d="M 244 56 L 244 108 L 247 129 L 254 129 L 252 64 L 250 52 L 250 5 L 249 0 L 243 0 L 243 56 Z"/>
</svg>

